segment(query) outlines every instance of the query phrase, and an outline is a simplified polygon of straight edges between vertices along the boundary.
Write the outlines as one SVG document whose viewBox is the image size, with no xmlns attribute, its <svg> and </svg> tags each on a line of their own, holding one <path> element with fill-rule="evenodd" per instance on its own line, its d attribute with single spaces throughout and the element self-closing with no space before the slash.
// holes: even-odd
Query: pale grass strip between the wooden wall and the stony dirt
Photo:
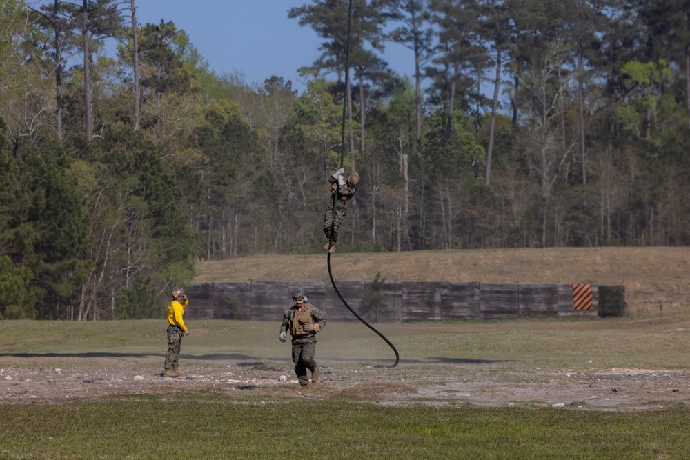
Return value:
<svg viewBox="0 0 690 460">
<path fill-rule="evenodd" d="M 0 366 L 160 367 L 165 320 L 5 321 Z M 235 354 L 254 361 L 288 359 L 279 321 L 188 323 L 183 354 L 203 361 Z M 505 361 L 511 368 L 644 368 L 690 370 L 690 317 L 375 324 L 403 363 Z M 332 361 L 390 364 L 391 348 L 359 323 L 328 323 L 318 354 Z"/>
</svg>

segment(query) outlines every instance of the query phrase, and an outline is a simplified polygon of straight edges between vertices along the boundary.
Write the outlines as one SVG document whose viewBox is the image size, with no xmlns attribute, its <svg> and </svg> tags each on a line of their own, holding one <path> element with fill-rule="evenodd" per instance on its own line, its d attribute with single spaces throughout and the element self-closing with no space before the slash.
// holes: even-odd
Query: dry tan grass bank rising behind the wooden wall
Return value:
<svg viewBox="0 0 690 460">
<path fill-rule="evenodd" d="M 335 281 L 581 283 L 623 285 L 634 317 L 687 312 L 690 248 L 546 248 L 347 254 L 331 257 Z M 324 281 L 326 254 L 197 263 L 195 281 Z"/>
</svg>

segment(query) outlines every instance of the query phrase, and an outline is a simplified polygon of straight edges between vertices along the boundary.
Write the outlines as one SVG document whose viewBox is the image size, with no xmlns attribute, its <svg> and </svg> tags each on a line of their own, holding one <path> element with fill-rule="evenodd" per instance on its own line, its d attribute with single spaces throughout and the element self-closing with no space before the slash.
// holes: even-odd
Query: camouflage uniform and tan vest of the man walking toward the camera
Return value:
<svg viewBox="0 0 690 460">
<path fill-rule="evenodd" d="M 304 324 L 318 324 L 319 330 L 326 326 L 324 314 L 311 303 L 293 305 L 292 308 L 285 310 L 283 323 L 280 332 L 289 331 L 293 340 L 293 363 L 295 363 L 295 374 L 299 379 L 299 384 L 305 386 L 309 383 L 306 370 L 312 372 L 312 381 L 318 375 L 317 363 L 314 360 L 316 354 L 316 332 L 306 332 Z"/>
</svg>

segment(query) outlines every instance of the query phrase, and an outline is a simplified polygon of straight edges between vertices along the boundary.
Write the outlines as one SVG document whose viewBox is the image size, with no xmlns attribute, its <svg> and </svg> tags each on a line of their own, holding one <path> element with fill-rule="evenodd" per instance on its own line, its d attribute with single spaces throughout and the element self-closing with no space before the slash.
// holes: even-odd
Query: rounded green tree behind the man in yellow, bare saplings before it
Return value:
<svg viewBox="0 0 690 460">
<path fill-rule="evenodd" d="M 193 276 L 193 234 L 181 210 L 184 184 L 175 164 L 130 127 L 106 130 L 69 176 L 86 196 L 92 267 L 74 319 L 112 319 L 120 293 L 151 279 L 164 294 Z"/>
</svg>

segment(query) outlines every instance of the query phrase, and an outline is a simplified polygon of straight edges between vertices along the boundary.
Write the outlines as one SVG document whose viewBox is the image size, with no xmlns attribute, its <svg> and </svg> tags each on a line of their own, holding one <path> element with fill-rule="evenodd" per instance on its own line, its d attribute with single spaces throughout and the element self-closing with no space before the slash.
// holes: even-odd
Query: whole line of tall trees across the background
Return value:
<svg viewBox="0 0 690 460">
<path fill-rule="evenodd" d="M 341 159 L 339 250 L 686 245 L 688 11 L 313 0 L 299 94 L 136 0 L 0 0 L 0 317 L 160 316 L 195 261 L 320 252 Z"/>
</svg>

